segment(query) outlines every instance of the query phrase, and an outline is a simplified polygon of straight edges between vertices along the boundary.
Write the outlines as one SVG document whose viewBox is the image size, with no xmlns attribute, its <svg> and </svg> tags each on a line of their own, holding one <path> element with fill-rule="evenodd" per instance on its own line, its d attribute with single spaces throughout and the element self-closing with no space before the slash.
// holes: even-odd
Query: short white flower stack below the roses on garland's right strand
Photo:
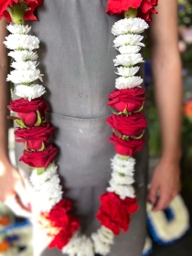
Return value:
<svg viewBox="0 0 192 256">
<path fill-rule="evenodd" d="M 133 172 L 135 160 L 133 157 L 122 159 L 120 155 L 115 155 L 112 159 L 112 178 L 107 187 L 108 192 L 114 192 L 121 199 L 125 197 L 135 197 Z"/>
</svg>

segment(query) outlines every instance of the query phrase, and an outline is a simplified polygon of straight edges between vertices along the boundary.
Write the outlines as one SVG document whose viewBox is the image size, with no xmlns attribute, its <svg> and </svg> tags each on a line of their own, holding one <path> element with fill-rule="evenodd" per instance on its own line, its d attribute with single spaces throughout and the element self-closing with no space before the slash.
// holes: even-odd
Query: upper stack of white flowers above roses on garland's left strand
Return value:
<svg viewBox="0 0 192 256">
<path fill-rule="evenodd" d="M 7 81 L 17 84 L 15 93 L 28 101 L 41 97 L 45 92 L 42 85 L 34 84 L 36 80 L 42 80 L 43 75 L 37 69 L 37 53 L 34 49 L 39 48 L 37 37 L 28 36 L 31 27 L 24 25 L 9 25 L 7 29 L 12 33 L 5 37 L 5 46 L 13 51 L 9 56 L 15 59 L 11 64 L 14 69 L 7 76 Z"/>
</svg>

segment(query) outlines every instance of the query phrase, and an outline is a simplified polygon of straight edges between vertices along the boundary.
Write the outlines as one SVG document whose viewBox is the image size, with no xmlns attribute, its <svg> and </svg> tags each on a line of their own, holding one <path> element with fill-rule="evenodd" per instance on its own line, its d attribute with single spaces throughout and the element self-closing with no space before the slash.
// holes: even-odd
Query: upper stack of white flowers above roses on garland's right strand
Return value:
<svg viewBox="0 0 192 256">
<path fill-rule="evenodd" d="M 139 87 L 143 79 L 135 77 L 139 67 L 133 66 L 144 62 L 142 55 L 139 53 L 143 36 L 139 35 L 149 26 L 141 18 L 124 18 L 117 21 L 112 27 L 112 34 L 117 36 L 114 39 L 114 47 L 120 51 L 120 55 L 113 60 L 114 66 L 123 66 L 116 72 L 121 77 L 115 81 L 115 87 L 121 89 L 131 89 Z"/>
</svg>

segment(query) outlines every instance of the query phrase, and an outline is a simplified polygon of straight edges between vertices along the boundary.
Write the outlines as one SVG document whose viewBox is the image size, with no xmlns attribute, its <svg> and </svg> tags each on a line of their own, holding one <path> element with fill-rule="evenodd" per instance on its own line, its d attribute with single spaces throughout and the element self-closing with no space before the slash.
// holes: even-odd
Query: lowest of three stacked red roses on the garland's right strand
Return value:
<svg viewBox="0 0 192 256">
<path fill-rule="evenodd" d="M 142 150 L 145 140 L 129 139 L 128 141 L 124 141 L 123 139 L 118 138 L 115 134 L 112 134 L 112 137 L 109 139 L 109 142 L 114 144 L 114 149 L 117 154 L 132 156 L 137 151 Z"/>
</svg>

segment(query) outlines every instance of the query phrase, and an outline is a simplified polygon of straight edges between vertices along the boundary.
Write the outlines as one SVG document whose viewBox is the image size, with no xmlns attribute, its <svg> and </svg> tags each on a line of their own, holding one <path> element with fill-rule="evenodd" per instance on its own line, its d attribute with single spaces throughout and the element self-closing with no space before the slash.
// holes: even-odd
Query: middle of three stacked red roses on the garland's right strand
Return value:
<svg viewBox="0 0 192 256">
<path fill-rule="evenodd" d="M 107 118 L 107 123 L 112 126 L 117 133 L 126 136 L 138 136 L 144 132 L 147 126 L 146 119 L 142 112 L 133 113 L 131 115 L 115 115 L 112 114 Z"/>
</svg>

